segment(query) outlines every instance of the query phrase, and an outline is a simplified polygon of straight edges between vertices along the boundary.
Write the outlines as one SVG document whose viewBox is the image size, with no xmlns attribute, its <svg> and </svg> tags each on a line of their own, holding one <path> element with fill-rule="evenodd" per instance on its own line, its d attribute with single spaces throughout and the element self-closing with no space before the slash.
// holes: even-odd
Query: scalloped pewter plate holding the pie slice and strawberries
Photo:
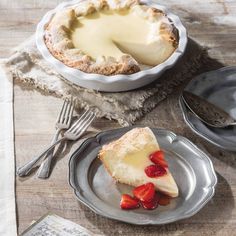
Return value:
<svg viewBox="0 0 236 236">
<path fill-rule="evenodd" d="M 131 193 L 132 187 L 115 183 L 97 154 L 102 145 L 118 139 L 131 128 L 105 131 L 89 138 L 71 156 L 69 181 L 78 200 L 99 215 L 138 225 L 166 224 L 196 214 L 214 195 L 217 178 L 212 162 L 188 139 L 156 128 L 152 131 L 165 152 L 179 197 L 168 206 L 152 211 L 120 209 L 121 194 Z"/>
</svg>

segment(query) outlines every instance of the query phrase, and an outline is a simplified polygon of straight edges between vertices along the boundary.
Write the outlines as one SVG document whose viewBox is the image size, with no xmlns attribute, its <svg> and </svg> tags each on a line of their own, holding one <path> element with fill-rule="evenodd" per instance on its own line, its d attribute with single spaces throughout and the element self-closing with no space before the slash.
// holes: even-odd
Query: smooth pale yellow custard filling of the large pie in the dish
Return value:
<svg viewBox="0 0 236 236">
<path fill-rule="evenodd" d="M 78 17 L 71 33 L 74 46 L 94 60 L 101 56 L 118 60 L 129 54 L 140 64 L 155 66 L 163 62 L 173 46 L 160 36 L 162 19 L 150 22 L 137 8 L 102 10 Z"/>
</svg>

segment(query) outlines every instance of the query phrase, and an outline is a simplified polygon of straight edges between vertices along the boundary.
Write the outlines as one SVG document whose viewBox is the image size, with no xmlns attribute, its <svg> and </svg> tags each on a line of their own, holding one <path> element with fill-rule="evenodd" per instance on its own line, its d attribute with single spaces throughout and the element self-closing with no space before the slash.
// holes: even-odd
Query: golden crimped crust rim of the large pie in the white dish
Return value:
<svg viewBox="0 0 236 236">
<path fill-rule="evenodd" d="M 138 62 L 128 54 L 119 59 L 114 57 L 101 56 L 94 60 L 89 55 L 83 53 L 79 48 L 75 48 L 70 38 L 70 29 L 73 22 L 79 16 L 86 16 L 102 9 L 124 9 L 140 4 L 136 0 L 116 1 L 115 7 L 110 6 L 106 0 L 84 1 L 68 9 L 63 9 L 56 13 L 51 21 L 45 26 L 45 44 L 50 53 L 63 62 L 65 65 L 79 69 L 86 73 L 96 73 L 103 75 L 133 74 L 140 71 Z M 142 5 L 144 17 L 153 21 L 155 18 L 164 16 L 158 9 Z M 161 29 L 163 37 L 172 42 L 173 47 L 177 46 L 177 37 L 173 33 L 170 24 L 162 23 Z"/>
</svg>

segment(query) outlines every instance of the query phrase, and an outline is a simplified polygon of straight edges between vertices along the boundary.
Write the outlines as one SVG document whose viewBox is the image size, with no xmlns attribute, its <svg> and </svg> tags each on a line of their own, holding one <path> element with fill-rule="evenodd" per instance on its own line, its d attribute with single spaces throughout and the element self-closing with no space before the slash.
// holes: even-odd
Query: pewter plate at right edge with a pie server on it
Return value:
<svg viewBox="0 0 236 236">
<path fill-rule="evenodd" d="M 201 74 L 191 80 L 185 90 L 222 108 L 236 119 L 236 67 L 224 67 Z M 196 134 L 220 148 L 236 151 L 236 126 L 226 128 L 207 126 L 189 111 L 182 97 L 180 97 L 180 107 L 185 122 Z"/>
</svg>

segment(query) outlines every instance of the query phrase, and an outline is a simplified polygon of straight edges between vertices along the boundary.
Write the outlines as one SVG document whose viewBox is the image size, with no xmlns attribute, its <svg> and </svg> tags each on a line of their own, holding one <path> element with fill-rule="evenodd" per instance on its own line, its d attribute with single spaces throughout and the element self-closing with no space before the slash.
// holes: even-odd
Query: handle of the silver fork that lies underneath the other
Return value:
<svg viewBox="0 0 236 236">
<path fill-rule="evenodd" d="M 56 130 L 56 133 L 55 133 L 55 135 L 52 139 L 52 143 L 54 143 L 58 139 L 58 136 L 59 136 L 60 132 L 61 132 L 61 129 Z M 41 179 L 48 178 L 49 172 L 50 172 L 50 167 L 51 167 L 51 162 L 52 162 L 52 158 L 53 158 L 54 149 L 55 149 L 55 147 L 52 148 L 51 151 L 48 151 L 45 159 L 41 163 L 41 165 L 38 169 L 38 173 L 37 173 L 38 178 L 41 178 Z"/>
</svg>

